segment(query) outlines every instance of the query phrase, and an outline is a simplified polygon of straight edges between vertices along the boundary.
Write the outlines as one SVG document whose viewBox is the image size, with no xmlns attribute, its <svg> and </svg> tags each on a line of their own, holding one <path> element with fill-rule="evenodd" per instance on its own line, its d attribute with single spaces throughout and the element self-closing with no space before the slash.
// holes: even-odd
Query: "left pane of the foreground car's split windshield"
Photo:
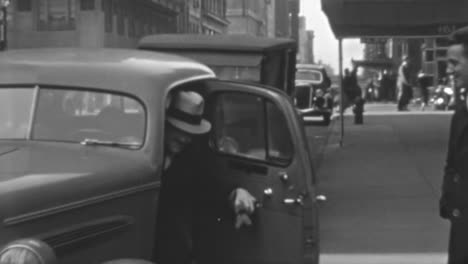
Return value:
<svg viewBox="0 0 468 264">
<path fill-rule="evenodd" d="M 0 88 L 0 139 L 25 139 L 32 118 L 34 89 Z"/>
</svg>

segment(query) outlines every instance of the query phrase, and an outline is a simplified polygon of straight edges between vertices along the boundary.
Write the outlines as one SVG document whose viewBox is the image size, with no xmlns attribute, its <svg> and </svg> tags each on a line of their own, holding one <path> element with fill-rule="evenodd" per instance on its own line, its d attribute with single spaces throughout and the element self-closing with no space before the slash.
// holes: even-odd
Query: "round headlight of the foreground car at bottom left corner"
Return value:
<svg viewBox="0 0 468 264">
<path fill-rule="evenodd" d="M 1 264 L 56 264 L 54 250 L 37 239 L 20 239 L 0 251 Z"/>
</svg>

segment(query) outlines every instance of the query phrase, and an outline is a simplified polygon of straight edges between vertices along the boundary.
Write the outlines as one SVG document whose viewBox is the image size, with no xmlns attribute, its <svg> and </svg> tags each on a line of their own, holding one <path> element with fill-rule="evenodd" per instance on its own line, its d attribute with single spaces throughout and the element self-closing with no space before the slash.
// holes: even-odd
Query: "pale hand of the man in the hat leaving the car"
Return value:
<svg viewBox="0 0 468 264">
<path fill-rule="evenodd" d="M 236 229 L 241 228 L 243 225 L 252 225 L 252 220 L 249 215 L 255 211 L 255 202 L 257 199 L 242 188 L 237 188 L 232 191 L 230 198 L 236 214 Z"/>
</svg>

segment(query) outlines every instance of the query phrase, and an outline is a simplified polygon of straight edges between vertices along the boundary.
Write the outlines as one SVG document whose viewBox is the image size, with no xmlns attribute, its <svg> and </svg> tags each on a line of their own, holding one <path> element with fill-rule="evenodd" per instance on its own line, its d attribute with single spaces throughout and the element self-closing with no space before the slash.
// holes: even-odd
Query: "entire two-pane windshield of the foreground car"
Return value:
<svg viewBox="0 0 468 264">
<path fill-rule="evenodd" d="M 138 148 L 144 141 L 145 119 L 142 104 L 125 95 L 65 88 L 0 88 L 0 139 L 103 142 Z"/>
</svg>

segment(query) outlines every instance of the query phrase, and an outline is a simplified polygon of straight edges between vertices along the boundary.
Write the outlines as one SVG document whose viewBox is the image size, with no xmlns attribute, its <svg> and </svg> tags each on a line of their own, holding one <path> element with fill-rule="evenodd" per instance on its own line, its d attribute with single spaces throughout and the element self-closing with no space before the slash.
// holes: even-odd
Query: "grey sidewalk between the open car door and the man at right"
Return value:
<svg viewBox="0 0 468 264">
<path fill-rule="evenodd" d="M 449 225 L 438 198 L 451 113 L 394 109 L 367 104 L 363 125 L 348 112 L 342 146 L 340 119 L 307 127 L 319 145 L 318 190 L 328 198 L 321 264 L 446 262 Z"/>
</svg>

